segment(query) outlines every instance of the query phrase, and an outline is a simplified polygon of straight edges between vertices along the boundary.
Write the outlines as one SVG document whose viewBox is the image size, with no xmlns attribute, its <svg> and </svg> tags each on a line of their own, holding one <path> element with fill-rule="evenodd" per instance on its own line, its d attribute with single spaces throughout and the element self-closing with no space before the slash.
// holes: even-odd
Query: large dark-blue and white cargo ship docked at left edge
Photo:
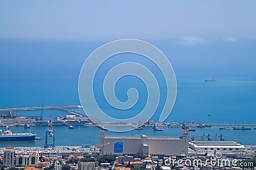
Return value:
<svg viewBox="0 0 256 170">
<path fill-rule="evenodd" d="M 36 138 L 36 134 L 29 133 L 12 133 L 6 127 L 6 130 L 2 132 L 0 130 L 0 141 L 33 141 Z"/>
</svg>

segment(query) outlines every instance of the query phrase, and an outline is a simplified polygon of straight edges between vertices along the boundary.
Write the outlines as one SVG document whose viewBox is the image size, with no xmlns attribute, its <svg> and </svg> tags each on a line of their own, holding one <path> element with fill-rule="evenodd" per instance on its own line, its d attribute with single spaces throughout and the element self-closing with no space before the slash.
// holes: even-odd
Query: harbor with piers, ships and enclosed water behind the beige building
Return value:
<svg viewBox="0 0 256 170">
<path fill-rule="evenodd" d="M 37 111 L 35 111 L 35 110 Z M 57 110 L 56 110 L 57 109 Z M 55 110 L 55 111 L 54 111 Z M 6 112 L 8 111 L 8 112 Z M 14 112 L 12 112 L 14 111 Z M 47 112 L 48 111 L 48 112 Z M 129 132 L 111 132 L 109 135 L 118 136 L 177 136 L 181 129 L 188 129 L 189 141 L 236 141 L 243 145 L 255 145 L 256 124 L 220 124 L 202 122 L 154 122 L 148 121 L 141 127 L 131 123 L 93 123 L 83 113 L 81 106 L 42 106 L 33 108 L 11 108 L 2 109 L 0 129 L 6 131 L 6 127 L 13 134 L 36 134 L 33 139 L 27 141 L 1 141 L 1 146 L 45 146 L 45 133 L 49 130 L 49 117 L 51 117 L 52 130 L 55 132 L 54 145 L 83 145 L 99 144 L 99 131 L 106 130 L 111 126 L 112 129 L 122 127 L 134 127 Z M 7 113 L 7 114 L 6 114 Z M 8 114 L 9 113 L 9 114 Z M 14 114 L 12 114 L 14 113 Z M 77 113 L 78 115 L 74 115 Z M 33 115 L 33 116 L 31 116 Z M 209 117 L 209 116 L 208 116 Z M 2 135 L 3 137 L 3 135 Z M 76 140 L 74 140 L 76 138 Z"/>
</svg>

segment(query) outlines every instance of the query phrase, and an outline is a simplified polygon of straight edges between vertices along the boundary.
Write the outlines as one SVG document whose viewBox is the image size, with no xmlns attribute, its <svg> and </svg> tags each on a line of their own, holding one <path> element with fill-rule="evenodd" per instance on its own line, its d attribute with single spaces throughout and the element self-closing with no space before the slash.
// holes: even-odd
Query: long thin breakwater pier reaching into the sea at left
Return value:
<svg viewBox="0 0 256 170">
<path fill-rule="evenodd" d="M 84 117 L 84 115 L 81 115 L 81 113 L 76 113 L 75 111 L 68 111 L 68 109 L 78 109 L 83 108 L 80 105 L 71 105 L 71 106 L 43 106 L 43 107 L 26 107 L 26 108 L 6 108 L 6 109 L 0 109 L 1 112 L 6 111 L 31 111 L 31 110 L 60 110 L 60 111 L 66 111 L 67 113 L 71 115 L 76 115 L 78 117 Z"/>
</svg>

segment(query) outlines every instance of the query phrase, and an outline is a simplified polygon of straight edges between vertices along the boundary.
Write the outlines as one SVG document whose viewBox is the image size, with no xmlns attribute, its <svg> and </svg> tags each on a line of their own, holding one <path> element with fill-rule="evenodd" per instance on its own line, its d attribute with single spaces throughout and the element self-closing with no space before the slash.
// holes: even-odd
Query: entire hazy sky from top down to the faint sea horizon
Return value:
<svg viewBox="0 0 256 170">
<path fill-rule="evenodd" d="M 134 38 L 162 50 L 176 74 L 256 77 L 255 6 L 236 0 L 0 1 L 0 76 L 78 76 L 93 50 Z"/>
</svg>

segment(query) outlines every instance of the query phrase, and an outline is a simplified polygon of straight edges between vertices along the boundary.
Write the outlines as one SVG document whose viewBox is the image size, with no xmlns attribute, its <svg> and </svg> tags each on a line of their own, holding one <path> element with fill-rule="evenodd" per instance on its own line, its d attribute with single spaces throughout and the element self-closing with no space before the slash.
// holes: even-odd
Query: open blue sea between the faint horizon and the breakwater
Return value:
<svg viewBox="0 0 256 170">
<path fill-rule="evenodd" d="M 1 78 L 0 108 L 41 106 L 42 103 L 44 106 L 79 104 L 77 79 Z M 132 87 L 131 84 L 131 81 L 127 81 L 124 87 Z M 176 103 L 166 122 L 256 123 L 256 81 L 226 78 L 205 82 L 204 78 L 177 76 L 177 86 Z M 143 96 L 146 92 L 143 92 L 142 87 L 138 88 Z M 125 88 L 118 90 L 117 94 L 126 97 Z M 140 111 L 143 106 L 137 110 Z M 51 113 L 54 117 L 55 113 L 49 111 L 44 111 L 43 117 L 47 118 Z M 160 113 L 161 110 L 157 110 L 152 119 L 157 121 Z M 207 117 L 209 113 L 211 117 Z M 113 114 L 118 115 L 120 112 L 113 111 Z M 29 115 L 40 115 L 40 111 L 33 111 Z M 59 115 L 65 113 L 57 113 Z"/>
</svg>

